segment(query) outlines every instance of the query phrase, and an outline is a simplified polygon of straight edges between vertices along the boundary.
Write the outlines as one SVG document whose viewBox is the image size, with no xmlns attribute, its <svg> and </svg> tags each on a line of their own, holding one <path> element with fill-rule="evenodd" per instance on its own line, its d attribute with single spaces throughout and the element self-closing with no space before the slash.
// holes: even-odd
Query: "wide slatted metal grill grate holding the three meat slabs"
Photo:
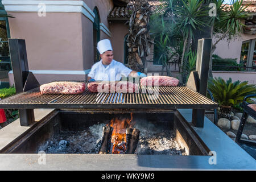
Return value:
<svg viewBox="0 0 256 182">
<path fill-rule="evenodd" d="M 86 88 L 88 82 L 85 82 Z M 146 92 L 142 92 L 146 90 Z M 88 89 L 82 94 L 41 94 L 39 88 L 19 93 L 0 101 L 3 109 L 94 109 L 94 108 L 162 108 L 162 109 L 213 109 L 218 105 L 207 97 L 188 89 L 183 84 L 178 86 L 160 86 L 159 94 L 150 94 L 150 90 L 139 86 L 139 93 L 91 93 Z"/>
</svg>

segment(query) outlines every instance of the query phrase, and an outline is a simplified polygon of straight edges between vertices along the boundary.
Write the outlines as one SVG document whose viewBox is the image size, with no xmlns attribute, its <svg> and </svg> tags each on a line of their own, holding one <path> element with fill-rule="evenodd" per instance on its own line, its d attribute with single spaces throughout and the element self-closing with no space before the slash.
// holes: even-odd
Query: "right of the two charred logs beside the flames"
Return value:
<svg viewBox="0 0 256 182">
<path fill-rule="evenodd" d="M 126 129 L 126 151 L 125 154 L 134 154 L 139 142 L 138 129 Z"/>
</svg>

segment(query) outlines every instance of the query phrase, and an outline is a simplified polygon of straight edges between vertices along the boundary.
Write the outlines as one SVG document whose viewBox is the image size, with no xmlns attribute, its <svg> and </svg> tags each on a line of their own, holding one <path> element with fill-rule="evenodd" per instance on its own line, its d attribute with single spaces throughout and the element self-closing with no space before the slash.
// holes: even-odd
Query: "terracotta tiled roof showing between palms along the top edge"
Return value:
<svg viewBox="0 0 256 182">
<path fill-rule="evenodd" d="M 249 5 L 245 11 L 249 13 L 256 13 L 256 0 L 243 0 L 244 3 L 251 3 L 252 5 Z M 123 18 L 128 19 L 131 16 L 131 9 L 130 5 L 133 4 L 134 1 L 130 1 L 126 7 L 114 7 L 113 10 L 109 14 L 109 18 Z M 163 5 L 163 2 L 160 1 L 148 1 L 148 3 L 151 5 L 151 11 L 154 13 L 163 13 L 163 9 L 158 9 L 160 5 Z M 253 5 L 255 4 L 255 5 Z M 231 5 L 226 5 L 231 6 Z M 162 12 L 161 12 L 162 11 Z"/>
</svg>

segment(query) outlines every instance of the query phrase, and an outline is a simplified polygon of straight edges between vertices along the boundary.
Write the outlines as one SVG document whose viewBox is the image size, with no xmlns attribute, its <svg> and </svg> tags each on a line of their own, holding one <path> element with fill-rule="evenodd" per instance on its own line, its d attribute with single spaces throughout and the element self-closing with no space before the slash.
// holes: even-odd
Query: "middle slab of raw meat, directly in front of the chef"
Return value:
<svg viewBox="0 0 256 182">
<path fill-rule="evenodd" d="M 87 86 L 94 93 L 139 93 L 138 85 L 129 81 L 95 81 Z"/>
</svg>

